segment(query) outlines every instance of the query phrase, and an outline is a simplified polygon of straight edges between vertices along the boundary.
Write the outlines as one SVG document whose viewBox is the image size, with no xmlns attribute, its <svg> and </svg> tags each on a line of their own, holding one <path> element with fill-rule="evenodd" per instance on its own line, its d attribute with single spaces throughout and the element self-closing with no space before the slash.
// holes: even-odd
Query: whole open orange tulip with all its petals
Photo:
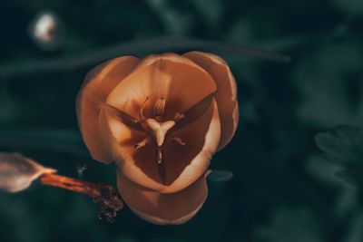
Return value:
<svg viewBox="0 0 363 242">
<path fill-rule="evenodd" d="M 238 123 L 237 88 L 219 56 L 115 58 L 87 74 L 77 99 L 94 160 L 118 165 L 118 189 L 141 218 L 181 224 L 207 197 L 211 156 Z"/>
</svg>

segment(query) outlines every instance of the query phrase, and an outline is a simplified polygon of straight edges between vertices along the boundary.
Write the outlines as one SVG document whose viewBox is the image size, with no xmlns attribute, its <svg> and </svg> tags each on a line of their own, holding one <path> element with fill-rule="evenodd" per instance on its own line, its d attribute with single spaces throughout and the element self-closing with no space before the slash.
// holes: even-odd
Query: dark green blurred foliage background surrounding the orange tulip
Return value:
<svg viewBox="0 0 363 242">
<path fill-rule="evenodd" d="M 54 51 L 38 48 L 27 31 L 44 10 L 63 24 Z M 75 117 L 76 93 L 95 64 L 195 49 L 165 48 L 160 40 L 168 36 L 292 58 L 271 62 L 200 44 L 231 64 L 240 125 L 211 165 L 231 170 L 233 179 L 210 181 L 205 205 L 185 225 L 153 226 L 128 208 L 108 224 L 90 198 L 34 184 L 0 193 L 1 242 L 363 241 L 362 195 L 334 176 L 337 167 L 314 141 L 319 131 L 363 120 L 363 1 L 2 0 L 0 26 L 0 149 L 75 178 L 86 165 L 83 179 L 113 185 L 114 166 L 90 159 Z M 121 45 L 107 52 L 113 44 Z"/>
</svg>

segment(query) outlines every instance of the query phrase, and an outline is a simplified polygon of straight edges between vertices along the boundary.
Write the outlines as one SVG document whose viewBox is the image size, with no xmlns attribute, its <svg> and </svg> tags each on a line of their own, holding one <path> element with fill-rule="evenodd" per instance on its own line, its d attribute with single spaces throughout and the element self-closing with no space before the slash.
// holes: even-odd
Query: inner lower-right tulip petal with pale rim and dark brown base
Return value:
<svg viewBox="0 0 363 242">
<path fill-rule="evenodd" d="M 217 102 L 212 99 L 203 115 L 174 131 L 173 136 L 184 140 L 185 145 L 171 141 L 165 148 L 165 183 L 169 186 L 162 193 L 184 189 L 208 169 L 221 138 Z"/>
</svg>

